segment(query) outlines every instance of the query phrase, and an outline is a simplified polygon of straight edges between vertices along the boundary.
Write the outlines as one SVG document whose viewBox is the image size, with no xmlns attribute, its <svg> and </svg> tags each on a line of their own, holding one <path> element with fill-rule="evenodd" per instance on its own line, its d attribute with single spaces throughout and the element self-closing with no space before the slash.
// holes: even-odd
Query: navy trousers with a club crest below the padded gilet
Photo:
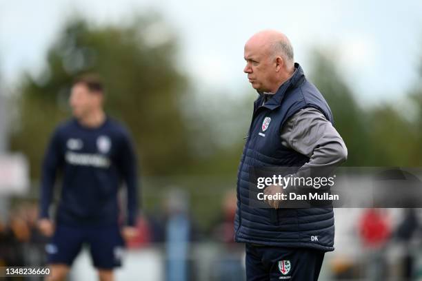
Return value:
<svg viewBox="0 0 422 281">
<path fill-rule="evenodd" d="M 246 244 L 246 280 L 316 281 L 324 252 Z"/>
</svg>

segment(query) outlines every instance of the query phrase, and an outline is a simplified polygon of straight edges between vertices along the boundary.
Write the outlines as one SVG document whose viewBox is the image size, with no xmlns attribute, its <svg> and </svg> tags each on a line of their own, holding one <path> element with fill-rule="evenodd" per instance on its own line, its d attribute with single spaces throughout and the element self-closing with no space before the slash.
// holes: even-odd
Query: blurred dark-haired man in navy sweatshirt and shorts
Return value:
<svg viewBox="0 0 422 281">
<path fill-rule="evenodd" d="M 66 278 L 81 247 L 88 244 L 100 280 L 113 280 L 121 265 L 123 238 L 136 235 L 137 165 L 130 134 L 103 111 L 104 90 L 98 76 L 81 76 L 73 84 L 74 118 L 55 129 L 43 161 L 39 228 L 52 236 L 47 245 L 52 274 Z M 49 215 L 54 180 L 63 183 L 54 222 Z M 121 229 L 118 191 L 127 187 L 127 218 Z M 122 237 L 123 234 L 123 237 Z"/>
</svg>

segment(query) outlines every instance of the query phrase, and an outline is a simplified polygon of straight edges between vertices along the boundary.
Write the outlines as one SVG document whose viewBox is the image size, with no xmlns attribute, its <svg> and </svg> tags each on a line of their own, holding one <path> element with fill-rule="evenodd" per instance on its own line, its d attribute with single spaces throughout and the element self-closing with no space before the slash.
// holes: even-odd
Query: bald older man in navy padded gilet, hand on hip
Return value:
<svg viewBox="0 0 422 281">
<path fill-rule="evenodd" d="M 333 127 L 330 107 L 294 63 L 289 39 L 264 30 L 245 44 L 245 69 L 259 96 L 239 166 L 235 238 L 246 247 L 246 276 L 252 280 L 318 280 L 324 253 L 334 250 L 332 207 L 283 208 L 268 195 L 289 188 L 268 185 L 265 206 L 256 207 L 251 168 L 290 167 L 306 176 L 314 167 L 336 167 L 347 158 Z M 251 177 L 250 177 L 251 176 Z"/>
</svg>

